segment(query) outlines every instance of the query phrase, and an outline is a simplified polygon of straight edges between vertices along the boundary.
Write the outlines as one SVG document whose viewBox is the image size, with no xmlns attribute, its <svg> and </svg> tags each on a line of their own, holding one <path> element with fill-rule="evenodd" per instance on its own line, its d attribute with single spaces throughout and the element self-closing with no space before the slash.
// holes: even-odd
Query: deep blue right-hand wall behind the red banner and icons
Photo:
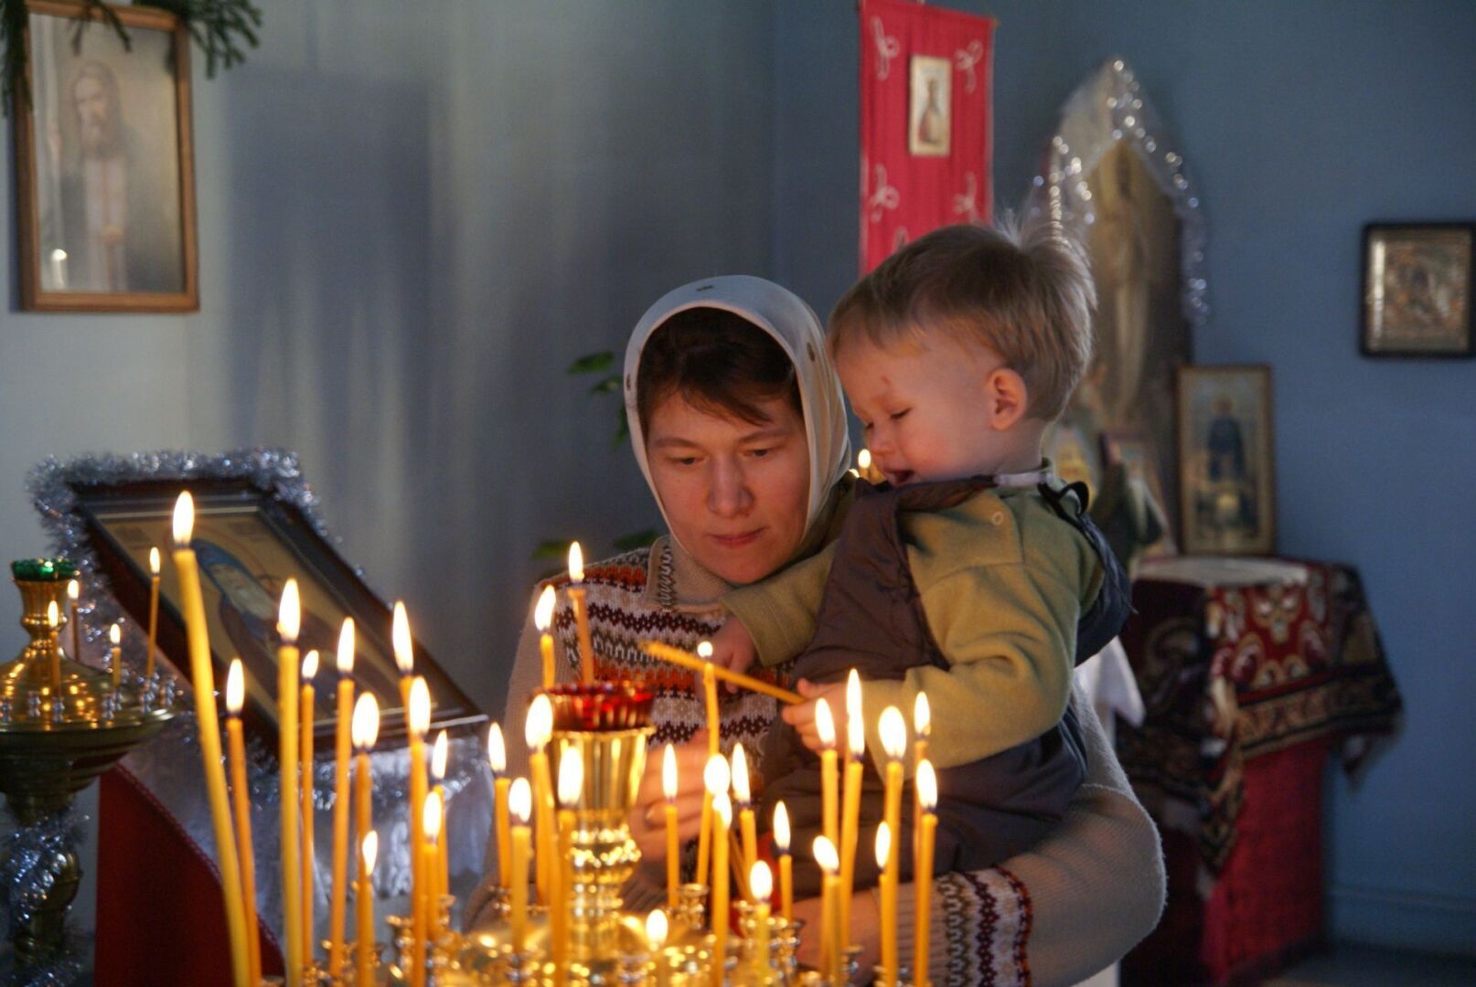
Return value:
<svg viewBox="0 0 1476 987">
<path fill-rule="evenodd" d="M 995 201 L 1017 205 L 1058 106 L 1134 66 L 1197 177 L 1215 308 L 1200 363 L 1269 363 L 1284 555 L 1359 567 L 1407 727 L 1330 783 L 1334 934 L 1476 952 L 1476 363 L 1358 356 L 1359 233 L 1476 218 L 1476 6 L 999 3 Z M 781 4 L 779 280 L 824 310 L 855 274 L 856 25 Z"/>
</svg>

